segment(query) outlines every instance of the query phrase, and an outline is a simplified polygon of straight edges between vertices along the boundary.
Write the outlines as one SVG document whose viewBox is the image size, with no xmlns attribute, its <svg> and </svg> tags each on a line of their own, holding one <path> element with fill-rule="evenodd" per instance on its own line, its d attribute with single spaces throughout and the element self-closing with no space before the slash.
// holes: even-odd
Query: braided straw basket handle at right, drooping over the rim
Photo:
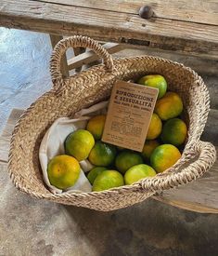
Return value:
<svg viewBox="0 0 218 256">
<path fill-rule="evenodd" d="M 197 142 L 193 148 L 193 154 L 191 155 L 198 156 L 198 159 L 181 170 L 181 172 L 172 172 L 167 175 L 163 174 L 162 176 L 147 178 L 140 182 L 141 187 L 151 192 L 160 192 L 195 181 L 212 168 L 216 160 L 216 150 L 210 142 Z"/>
</svg>

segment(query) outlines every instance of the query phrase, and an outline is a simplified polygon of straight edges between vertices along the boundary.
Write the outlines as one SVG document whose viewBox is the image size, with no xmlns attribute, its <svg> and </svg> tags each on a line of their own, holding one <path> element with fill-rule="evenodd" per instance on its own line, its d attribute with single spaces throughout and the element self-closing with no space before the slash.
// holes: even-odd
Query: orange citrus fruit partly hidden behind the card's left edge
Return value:
<svg viewBox="0 0 218 256">
<path fill-rule="evenodd" d="M 105 119 L 106 115 L 96 115 L 88 121 L 86 129 L 92 133 L 96 140 L 101 139 L 105 126 Z"/>
</svg>

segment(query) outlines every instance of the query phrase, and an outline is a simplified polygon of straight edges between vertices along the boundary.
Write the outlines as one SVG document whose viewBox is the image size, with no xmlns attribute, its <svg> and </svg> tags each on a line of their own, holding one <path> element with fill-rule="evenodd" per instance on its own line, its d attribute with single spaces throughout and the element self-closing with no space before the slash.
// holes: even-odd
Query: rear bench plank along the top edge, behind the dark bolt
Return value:
<svg viewBox="0 0 218 256">
<path fill-rule="evenodd" d="M 130 14 L 138 14 L 140 7 L 147 5 L 152 7 L 155 17 L 158 18 L 218 25 L 218 2 L 214 0 L 155 0 L 146 2 L 141 0 L 115 0 L 112 1 L 112 4 L 110 0 L 96 0 L 95 3 L 94 1 L 87 0 L 40 0 L 40 2 L 56 3 L 61 6 L 96 8 Z"/>
</svg>

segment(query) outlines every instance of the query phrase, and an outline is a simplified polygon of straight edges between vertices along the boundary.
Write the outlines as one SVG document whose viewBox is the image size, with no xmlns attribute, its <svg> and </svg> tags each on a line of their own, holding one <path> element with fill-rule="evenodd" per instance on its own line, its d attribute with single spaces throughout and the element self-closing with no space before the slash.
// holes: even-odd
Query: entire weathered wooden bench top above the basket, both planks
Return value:
<svg viewBox="0 0 218 256">
<path fill-rule="evenodd" d="M 0 25 L 49 34 L 159 47 L 218 59 L 214 0 L 152 1 L 155 16 L 138 16 L 143 1 L 0 0 Z"/>
</svg>

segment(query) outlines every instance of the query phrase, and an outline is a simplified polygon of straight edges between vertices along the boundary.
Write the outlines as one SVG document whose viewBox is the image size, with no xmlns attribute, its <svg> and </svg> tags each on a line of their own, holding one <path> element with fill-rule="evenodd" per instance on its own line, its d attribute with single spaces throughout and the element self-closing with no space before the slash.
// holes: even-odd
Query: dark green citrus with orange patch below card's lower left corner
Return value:
<svg viewBox="0 0 218 256">
<path fill-rule="evenodd" d="M 108 167 L 114 162 L 116 152 L 115 146 L 102 141 L 96 141 L 88 159 L 95 166 Z"/>
</svg>

